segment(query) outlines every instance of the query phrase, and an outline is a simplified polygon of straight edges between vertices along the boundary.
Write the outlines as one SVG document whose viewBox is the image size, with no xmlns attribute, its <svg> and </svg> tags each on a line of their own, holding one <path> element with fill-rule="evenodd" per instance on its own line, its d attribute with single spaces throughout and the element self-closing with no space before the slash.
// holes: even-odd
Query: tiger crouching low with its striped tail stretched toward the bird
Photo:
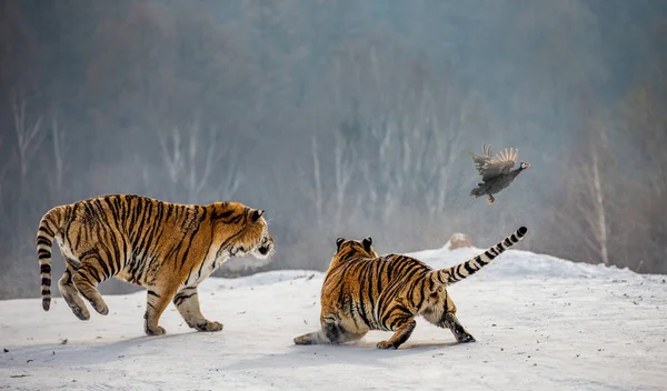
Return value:
<svg viewBox="0 0 667 391">
<path fill-rule="evenodd" d="M 451 268 L 434 270 L 401 254 L 378 255 L 372 238 L 338 238 L 337 250 L 321 288 L 320 330 L 296 337 L 303 344 L 341 344 L 361 339 L 369 330 L 392 331 L 378 349 L 398 349 L 415 330 L 415 317 L 447 328 L 459 343 L 475 338 L 456 317 L 447 287 L 475 274 L 491 260 L 520 241 L 519 228 L 504 241 Z"/>
</svg>

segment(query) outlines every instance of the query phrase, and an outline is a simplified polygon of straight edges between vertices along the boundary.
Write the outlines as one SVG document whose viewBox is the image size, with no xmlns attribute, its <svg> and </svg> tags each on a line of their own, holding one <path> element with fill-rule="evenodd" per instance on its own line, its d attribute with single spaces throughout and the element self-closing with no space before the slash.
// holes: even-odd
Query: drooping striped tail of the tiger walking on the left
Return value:
<svg viewBox="0 0 667 391">
<path fill-rule="evenodd" d="M 37 258 L 41 275 L 42 308 L 51 308 L 51 247 L 53 238 L 62 227 L 63 207 L 53 208 L 44 214 L 37 230 Z"/>
</svg>

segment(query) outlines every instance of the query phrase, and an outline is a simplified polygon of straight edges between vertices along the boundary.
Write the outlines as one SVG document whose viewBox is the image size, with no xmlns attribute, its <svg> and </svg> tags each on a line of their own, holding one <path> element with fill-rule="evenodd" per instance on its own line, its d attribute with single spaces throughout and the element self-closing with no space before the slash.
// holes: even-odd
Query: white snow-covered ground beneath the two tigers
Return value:
<svg viewBox="0 0 667 391">
<path fill-rule="evenodd" d="M 434 267 L 476 249 L 412 253 Z M 107 295 L 78 320 L 56 298 L 0 301 L 0 389 L 17 390 L 667 390 L 665 275 L 510 250 L 449 291 L 476 343 L 418 319 L 399 350 L 297 347 L 318 328 L 322 274 L 209 279 L 201 307 L 225 323 L 193 332 L 172 305 L 145 337 L 143 292 Z M 39 287 L 36 282 L 36 290 Z M 67 341 L 63 343 L 63 341 Z"/>
</svg>

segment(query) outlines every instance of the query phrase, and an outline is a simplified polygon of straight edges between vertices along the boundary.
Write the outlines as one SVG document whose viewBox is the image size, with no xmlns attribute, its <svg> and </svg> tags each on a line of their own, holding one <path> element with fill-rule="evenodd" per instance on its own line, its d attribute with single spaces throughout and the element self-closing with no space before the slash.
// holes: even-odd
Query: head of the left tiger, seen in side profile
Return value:
<svg viewBox="0 0 667 391">
<path fill-rule="evenodd" d="M 221 252 L 227 252 L 230 258 L 250 254 L 267 259 L 273 254 L 273 238 L 263 210 L 239 202 L 217 202 L 212 209 L 215 241 L 220 243 L 218 257 Z"/>
</svg>

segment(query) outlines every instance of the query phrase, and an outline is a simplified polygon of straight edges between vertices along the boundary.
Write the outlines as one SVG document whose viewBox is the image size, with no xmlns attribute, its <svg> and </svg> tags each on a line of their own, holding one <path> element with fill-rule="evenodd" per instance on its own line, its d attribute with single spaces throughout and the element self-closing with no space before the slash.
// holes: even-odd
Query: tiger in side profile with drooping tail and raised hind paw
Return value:
<svg viewBox="0 0 667 391">
<path fill-rule="evenodd" d="M 191 329 L 220 331 L 205 318 L 197 287 L 232 257 L 267 259 L 275 252 L 265 211 L 239 202 L 178 204 L 136 194 L 110 194 L 54 207 L 37 231 L 42 308 L 51 307 L 51 249 L 58 241 L 66 271 L 62 298 L 80 320 L 109 308 L 97 285 L 110 278 L 147 289 L 143 330 L 161 335 L 170 301 Z M 80 294 L 79 294 L 80 293 Z"/>
</svg>

